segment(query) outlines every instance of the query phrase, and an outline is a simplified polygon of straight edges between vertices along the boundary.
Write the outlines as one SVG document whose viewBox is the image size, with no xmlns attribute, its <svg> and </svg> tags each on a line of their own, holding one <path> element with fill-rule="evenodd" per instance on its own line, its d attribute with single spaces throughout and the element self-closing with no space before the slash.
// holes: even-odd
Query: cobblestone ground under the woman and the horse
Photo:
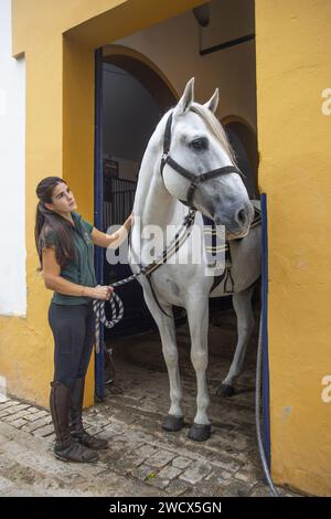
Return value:
<svg viewBox="0 0 331 519">
<path fill-rule="evenodd" d="M 65 464 L 52 455 L 47 410 L 8 399 L 0 403 L 0 496 L 269 496 L 257 459 L 254 425 L 254 345 L 231 399 L 215 395 L 229 367 L 235 326 L 231 311 L 210 327 L 212 437 L 188 438 L 195 414 L 195 378 L 188 329 L 178 329 L 185 426 L 166 433 L 169 386 L 157 332 L 115 341 L 115 382 L 106 401 L 85 411 L 86 428 L 109 439 L 96 464 Z M 295 496 L 279 488 L 282 496 Z"/>
</svg>

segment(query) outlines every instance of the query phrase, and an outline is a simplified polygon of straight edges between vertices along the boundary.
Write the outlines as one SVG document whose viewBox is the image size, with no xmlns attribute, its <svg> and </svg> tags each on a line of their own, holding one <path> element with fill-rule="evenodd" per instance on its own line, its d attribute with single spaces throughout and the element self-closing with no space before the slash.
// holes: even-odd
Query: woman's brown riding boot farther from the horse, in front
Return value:
<svg viewBox="0 0 331 519">
<path fill-rule="evenodd" d="M 55 431 L 54 454 L 63 462 L 95 462 L 97 453 L 84 447 L 73 438 L 70 430 L 70 410 L 72 392 L 58 381 L 51 382 L 51 413 Z"/>
</svg>

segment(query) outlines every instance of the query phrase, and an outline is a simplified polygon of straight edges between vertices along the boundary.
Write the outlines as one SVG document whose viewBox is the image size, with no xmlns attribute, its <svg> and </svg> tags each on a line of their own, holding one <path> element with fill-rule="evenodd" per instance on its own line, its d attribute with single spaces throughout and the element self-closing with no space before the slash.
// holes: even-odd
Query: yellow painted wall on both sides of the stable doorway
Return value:
<svg viewBox="0 0 331 519">
<path fill-rule="evenodd" d="M 33 244 L 38 181 L 64 174 L 79 211 L 93 220 L 94 49 L 197 3 L 13 0 L 13 54 L 26 59 L 29 292 L 26 319 L 0 317 L 0 366 L 18 396 L 46 404 L 52 375 L 51 294 L 35 274 Z M 330 87 L 330 17 L 328 0 L 256 2 L 259 183 L 269 209 L 273 474 L 313 494 L 331 490 L 331 413 L 321 401 L 321 379 L 330 374 L 331 117 L 320 108 L 321 91 Z"/>
</svg>

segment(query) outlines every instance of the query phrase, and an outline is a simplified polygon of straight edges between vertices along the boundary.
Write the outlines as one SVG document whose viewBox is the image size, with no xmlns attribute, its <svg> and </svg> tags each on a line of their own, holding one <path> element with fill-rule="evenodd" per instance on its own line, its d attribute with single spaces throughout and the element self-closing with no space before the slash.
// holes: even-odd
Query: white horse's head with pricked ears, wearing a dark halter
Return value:
<svg viewBox="0 0 331 519">
<path fill-rule="evenodd" d="M 194 103 L 190 80 L 169 118 L 163 141 L 162 177 L 174 198 L 189 202 L 232 235 L 245 235 L 254 211 L 221 123 L 214 116 L 218 91 Z M 203 174 L 206 173 L 206 174 Z"/>
</svg>

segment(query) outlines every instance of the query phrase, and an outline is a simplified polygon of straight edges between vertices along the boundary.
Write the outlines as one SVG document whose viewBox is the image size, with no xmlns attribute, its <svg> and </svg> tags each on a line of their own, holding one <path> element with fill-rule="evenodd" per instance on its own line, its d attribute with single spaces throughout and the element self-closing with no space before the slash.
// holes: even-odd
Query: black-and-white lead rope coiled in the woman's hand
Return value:
<svg viewBox="0 0 331 519">
<path fill-rule="evenodd" d="M 185 240 L 191 234 L 192 231 L 192 225 L 195 219 L 195 210 L 190 209 L 189 213 L 184 218 L 184 221 L 170 242 L 168 246 L 163 248 L 162 254 L 157 257 L 152 263 L 149 265 L 146 265 L 145 267 L 140 268 L 139 272 L 136 274 L 132 274 L 129 277 L 126 277 L 125 279 L 120 279 L 119 282 L 113 283 L 110 286 L 111 287 L 118 287 L 121 285 L 126 285 L 127 283 L 134 282 L 138 276 L 142 275 L 150 275 L 152 274 L 157 268 L 159 268 L 163 263 L 166 263 L 179 248 L 180 245 L 183 244 Z M 181 235 L 182 234 L 182 235 Z M 113 328 L 115 325 L 117 325 L 122 316 L 124 316 L 124 304 L 120 299 L 120 297 L 113 293 L 111 299 L 110 299 L 110 308 L 111 308 L 111 319 L 108 320 L 106 318 L 106 310 L 105 310 L 105 300 L 103 299 L 94 299 L 93 301 L 93 309 L 96 316 L 96 352 L 99 352 L 99 337 L 100 337 L 100 322 L 104 324 L 106 328 Z"/>
</svg>

